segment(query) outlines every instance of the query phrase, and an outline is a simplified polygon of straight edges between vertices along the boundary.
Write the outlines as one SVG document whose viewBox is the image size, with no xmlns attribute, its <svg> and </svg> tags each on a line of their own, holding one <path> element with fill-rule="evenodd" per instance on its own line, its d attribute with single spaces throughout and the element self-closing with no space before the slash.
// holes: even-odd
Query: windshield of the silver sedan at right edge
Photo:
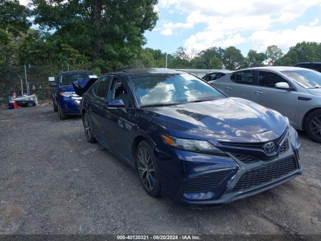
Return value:
<svg viewBox="0 0 321 241">
<path fill-rule="evenodd" d="M 288 78 L 306 89 L 321 88 L 321 73 L 314 70 L 281 71 Z"/>
</svg>

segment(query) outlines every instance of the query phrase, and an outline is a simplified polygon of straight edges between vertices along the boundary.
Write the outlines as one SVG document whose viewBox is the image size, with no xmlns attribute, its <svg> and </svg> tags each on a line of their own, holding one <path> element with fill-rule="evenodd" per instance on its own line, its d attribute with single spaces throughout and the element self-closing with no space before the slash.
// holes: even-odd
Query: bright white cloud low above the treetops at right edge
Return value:
<svg viewBox="0 0 321 241">
<path fill-rule="evenodd" d="M 290 46 L 302 41 L 321 42 L 321 26 L 299 25 L 296 29 L 282 31 L 260 30 L 254 32 L 250 40 L 257 46 L 259 51 L 264 51 L 267 46 L 275 44 L 286 52 Z"/>
</svg>

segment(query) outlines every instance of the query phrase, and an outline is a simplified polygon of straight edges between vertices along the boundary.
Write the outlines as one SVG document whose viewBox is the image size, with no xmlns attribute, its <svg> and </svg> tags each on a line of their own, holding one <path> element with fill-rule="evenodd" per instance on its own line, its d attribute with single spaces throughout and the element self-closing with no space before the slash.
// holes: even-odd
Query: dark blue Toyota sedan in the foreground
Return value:
<svg viewBox="0 0 321 241">
<path fill-rule="evenodd" d="M 303 169 L 286 117 L 185 72 L 106 74 L 83 94 L 81 114 L 87 140 L 136 169 L 149 195 L 189 206 L 229 203 Z"/>
</svg>

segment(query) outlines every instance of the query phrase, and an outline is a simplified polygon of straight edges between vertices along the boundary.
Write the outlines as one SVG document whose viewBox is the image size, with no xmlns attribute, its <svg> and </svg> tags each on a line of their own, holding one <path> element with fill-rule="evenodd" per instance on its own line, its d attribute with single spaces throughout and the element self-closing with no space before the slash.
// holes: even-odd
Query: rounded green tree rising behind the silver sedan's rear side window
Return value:
<svg viewBox="0 0 321 241">
<path fill-rule="evenodd" d="M 223 51 L 222 62 L 226 69 L 236 70 L 245 67 L 245 58 L 241 50 L 231 46 Z"/>
</svg>

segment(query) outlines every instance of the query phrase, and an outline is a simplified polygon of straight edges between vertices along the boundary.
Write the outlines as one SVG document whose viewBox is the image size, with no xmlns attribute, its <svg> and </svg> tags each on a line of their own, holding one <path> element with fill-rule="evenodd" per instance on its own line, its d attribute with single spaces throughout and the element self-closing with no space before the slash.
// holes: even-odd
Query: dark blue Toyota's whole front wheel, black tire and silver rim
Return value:
<svg viewBox="0 0 321 241">
<path fill-rule="evenodd" d="M 161 195 L 161 176 L 150 144 L 141 141 L 136 150 L 136 164 L 139 179 L 146 192 L 152 197 Z"/>
</svg>

